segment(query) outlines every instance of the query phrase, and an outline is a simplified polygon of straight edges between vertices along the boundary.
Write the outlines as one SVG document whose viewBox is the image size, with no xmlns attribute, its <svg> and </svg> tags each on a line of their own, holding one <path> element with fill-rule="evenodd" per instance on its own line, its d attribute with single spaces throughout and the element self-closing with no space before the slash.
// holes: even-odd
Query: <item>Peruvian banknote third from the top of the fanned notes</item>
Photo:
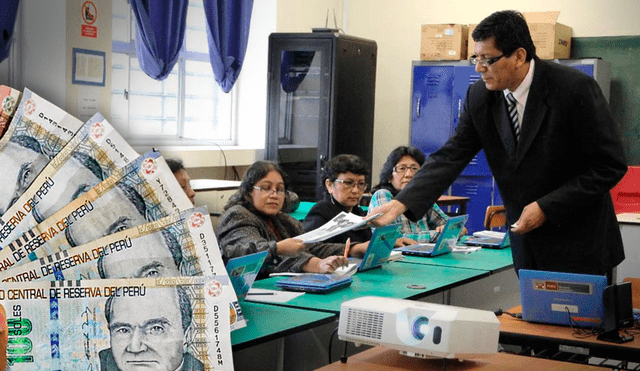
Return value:
<svg viewBox="0 0 640 371">
<path fill-rule="evenodd" d="M 42 223 L 138 156 L 96 113 L 0 216 L 0 246 Z"/>
</svg>

